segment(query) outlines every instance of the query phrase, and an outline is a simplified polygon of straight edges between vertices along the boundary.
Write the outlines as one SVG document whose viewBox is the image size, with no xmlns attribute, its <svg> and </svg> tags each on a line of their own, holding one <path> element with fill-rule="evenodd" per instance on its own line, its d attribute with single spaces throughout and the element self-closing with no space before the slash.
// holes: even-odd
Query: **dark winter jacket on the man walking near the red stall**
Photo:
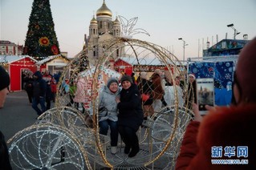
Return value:
<svg viewBox="0 0 256 170">
<path fill-rule="evenodd" d="M 36 99 L 39 99 L 39 97 L 45 97 L 47 91 L 47 83 L 42 78 L 43 76 L 40 71 L 36 71 L 34 75 L 38 78 L 33 82 L 33 97 Z"/>
</svg>

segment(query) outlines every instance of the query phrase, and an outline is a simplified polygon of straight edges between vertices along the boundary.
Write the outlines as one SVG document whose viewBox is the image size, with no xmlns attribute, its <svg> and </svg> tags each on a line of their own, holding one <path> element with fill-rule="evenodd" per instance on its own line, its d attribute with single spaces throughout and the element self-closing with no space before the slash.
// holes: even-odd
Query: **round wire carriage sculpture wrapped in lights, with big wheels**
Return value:
<svg viewBox="0 0 256 170">
<path fill-rule="evenodd" d="M 116 43 L 123 44 L 119 47 L 122 49 L 113 49 Z M 168 69 L 173 80 L 175 78 L 173 67 L 177 65 L 177 58 L 162 47 L 132 38 L 108 39 L 98 44 L 98 47 L 104 47 L 106 52 L 93 66 L 87 63 L 90 60 L 87 58 L 87 51 L 92 50 L 92 47 L 88 47 L 69 63 L 67 68 L 71 67 L 72 71 L 66 69 L 63 72 L 64 76 L 70 74 L 70 83 L 77 81 L 78 78 L 86 79 L 87 102 L 83 103 L 87 106 L 85 113 L 74 108 L 71 102 L 72 96 L 61 91 L 63 84 L 60 82 L 55 108 L 46 111 L 37 123 L 18 132 L 9 140 L 10 159 L 16 168 L 172 169 L 174 167 L 185 127 L 191 119 L 191 112 L 186 107 L 182 107 L 177 99 L 177 89 L 174 94 L 175 103 L 155 112 L 153 118 L 145 121 L 144 127 L 138 131 L 140 152 L 132 158 L 124 154 L 124 144 L 120 138 L 118 152 L 116 155 L 111 154 L 109 137 L 98 133 L 98 105 L 100 89 L 104 83 L 103 75 L 120 76 L 109 71 L 112 54 L 117 50 L 125 51 L 125 59 L 130 59 L 130 63 L 139 68 L 140 65 L 151 64 L 147 61 L 158 59 Z M 63 81 L 63 77 L 60 81 Z M 79 92 L 84 91 L 76 91 Z M 85 121 L 89 112 L 93 122 L 92 128 Z"/>
</svg>

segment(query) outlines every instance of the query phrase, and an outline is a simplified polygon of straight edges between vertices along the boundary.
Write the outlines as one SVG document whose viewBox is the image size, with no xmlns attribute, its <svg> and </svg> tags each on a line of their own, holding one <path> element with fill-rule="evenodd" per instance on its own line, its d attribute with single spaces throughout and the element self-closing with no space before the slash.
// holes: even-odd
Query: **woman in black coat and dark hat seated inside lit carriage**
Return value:
<svg viewBox="0 0 256 170">
<path fill-rule="evenodd" d="M 131 76 L 123 75 L 121 85 L 120 99 L 116 98 L 119 109 L 118 131 L 125 144 L 124 153 L 133 157 L 140 151 L 136 132 L 143 122 L 141 96 L 136 84 L 132 83 Z"/>
</svg>

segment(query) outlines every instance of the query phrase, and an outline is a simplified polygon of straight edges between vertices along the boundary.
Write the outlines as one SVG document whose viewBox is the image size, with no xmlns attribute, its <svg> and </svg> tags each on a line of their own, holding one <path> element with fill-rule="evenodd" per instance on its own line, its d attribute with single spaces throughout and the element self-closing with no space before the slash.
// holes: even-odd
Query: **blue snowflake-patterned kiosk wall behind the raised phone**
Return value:
<svg viewBox="0 0 256 170">
<path fill-rule="evenodd" d="M 213 78 L 215 104 L 217 106 L 230 105 L 232 97 L 232 83 L 238 55 L 217 56 L 189 59 L 189 74 L 196 78 Z"/>
</svg>

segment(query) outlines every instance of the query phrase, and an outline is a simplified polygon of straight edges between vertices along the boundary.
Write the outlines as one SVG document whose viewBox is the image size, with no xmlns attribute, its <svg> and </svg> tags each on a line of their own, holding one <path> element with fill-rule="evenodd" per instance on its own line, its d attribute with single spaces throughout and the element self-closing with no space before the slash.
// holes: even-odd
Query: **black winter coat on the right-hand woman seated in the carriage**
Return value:
<svg viewBox="0 0 256 170">
<path fill-rule="evenodd" d="M 127 90 L 123 88 L 120 91 L 120 103 L 117 107 L 119 109 L 118 124 L 137 131 L 143 122 L 143 111 L 140 91 L 136 84 L 132 83 Z"/>
</svg>

